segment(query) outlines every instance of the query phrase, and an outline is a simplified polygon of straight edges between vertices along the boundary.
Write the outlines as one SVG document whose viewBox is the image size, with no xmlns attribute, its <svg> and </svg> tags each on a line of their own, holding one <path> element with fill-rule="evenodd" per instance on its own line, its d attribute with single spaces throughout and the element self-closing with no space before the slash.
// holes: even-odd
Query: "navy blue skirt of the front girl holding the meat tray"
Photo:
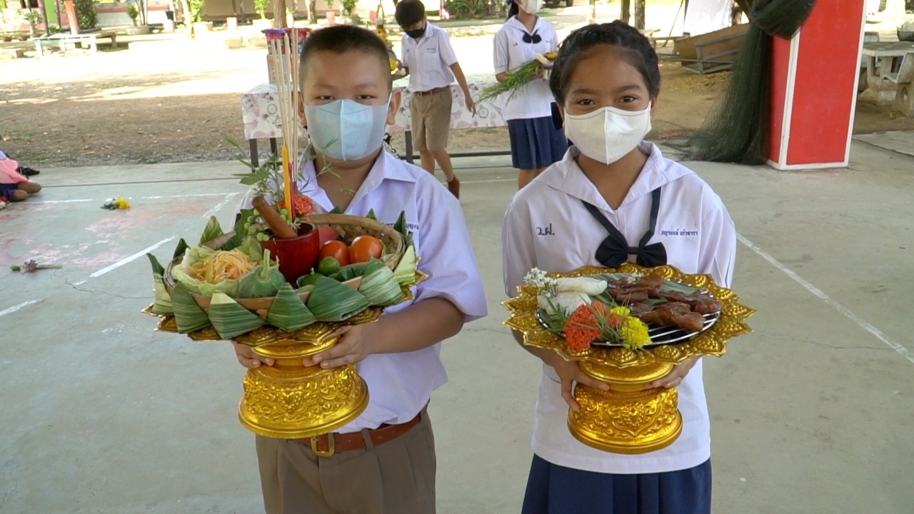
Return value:
<svg viewBox="0 0 914 514">
<path fill-rule="evenodd" d="M 521 514 L 710 514 L 711 460 L 668 473 L 612 475 L 533 455 Z"/>
</svg>

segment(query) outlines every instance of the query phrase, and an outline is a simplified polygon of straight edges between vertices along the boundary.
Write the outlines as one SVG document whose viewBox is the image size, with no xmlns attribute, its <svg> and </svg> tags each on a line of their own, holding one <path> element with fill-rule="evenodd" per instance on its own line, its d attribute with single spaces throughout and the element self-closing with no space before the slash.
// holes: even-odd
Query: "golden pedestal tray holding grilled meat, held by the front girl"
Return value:
<svg viewBox="0 0 914 514">
<path fill-rule="evenodd" d="M 622 347 L 585 348 L 573 351 L 558 334 L 544 327 L 537 316 L 536 286 L 524 284 L 518 294 L 503 302 L 511 311 L 505 326 L 524 336 L 524 344 L 557 351 L 566 360 L 578 360 L 580 368 L 609 384 L 600 391 L 581 384 L 575 386 L 580 410 L 569 409 L 569 431 L 583 444 L 617 454 L 644 454 L 673 444 L 682 433 L 682 415 L 677 407 L 675 388 L 645 389 L 666 376 L 673 367 L 692 356 L 721 356 L 730 337 L 748 334 L 744 323 L 755 310 L 739 304 L 733 291 L 714 284 L 707 274 L 681 273 L 672 266 L 644 268 L 623 262 L 618 269 L 584 267 L 571 273 L 547 273 L 551 277 L 578 277 L 600 273 L 639 273 L 661 275 L 666 280 L 705 289 L 721 303 L 717 322 L 685 341 L 664 346 L 631 350 Z"/>
</svg>

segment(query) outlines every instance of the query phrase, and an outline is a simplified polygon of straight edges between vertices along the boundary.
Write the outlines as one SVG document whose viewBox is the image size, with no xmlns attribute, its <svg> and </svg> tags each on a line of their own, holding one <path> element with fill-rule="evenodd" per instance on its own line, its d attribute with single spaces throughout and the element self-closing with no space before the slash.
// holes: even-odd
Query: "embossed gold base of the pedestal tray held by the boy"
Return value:
<svg viewBox="0 0 914 514">
<path fill-rule="evenodd" d="M 368 406 L 368 387 L 356 365 L 305 368 L 302 360 L 337 341 L 320 345 L 282 340 L 252 348 L 274 366 L 249 369 L 238 417 L 254 434 L 277 439 L 305 439 L 327 434 L 355 420 Z"/>
</svg>

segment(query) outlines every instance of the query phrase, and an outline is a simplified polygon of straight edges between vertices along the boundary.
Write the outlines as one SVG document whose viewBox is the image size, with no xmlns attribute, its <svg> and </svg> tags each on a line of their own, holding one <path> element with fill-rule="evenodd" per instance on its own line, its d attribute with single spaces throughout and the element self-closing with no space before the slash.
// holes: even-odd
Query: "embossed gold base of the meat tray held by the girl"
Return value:
<svg viewBox="0 0 914 514">
<path fill-rule="evenodd" d="M 600 391 L 578 384 L 574 397 L 580 410 L 569 410 L 569 431 L 599 450 L 646 454 L 673 444 L 682 434 L 675 388 Z"/>
</svg>

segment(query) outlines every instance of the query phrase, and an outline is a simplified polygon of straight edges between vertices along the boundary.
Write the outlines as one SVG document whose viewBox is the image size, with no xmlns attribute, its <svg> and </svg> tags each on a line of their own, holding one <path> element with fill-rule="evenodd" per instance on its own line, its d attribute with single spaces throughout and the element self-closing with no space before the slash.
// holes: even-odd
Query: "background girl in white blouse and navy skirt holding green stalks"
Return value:
<svg viewBox="0 0 914 514">
<path fill-rule="evenodd" d="M 537 16 L 543 0 L 510 0 L 508 19 L 494 38 L 495 80 L 504 82 L 509 71 L 558 49 L 551 23 Z M 562 130 L 552 123 L 552 92 L 542 72 L 526 84 L 505 107 L 511 162 L 517 168 L 517 187 L 524 187 L 558 161 L 568 149 Z"/>
</svg>

